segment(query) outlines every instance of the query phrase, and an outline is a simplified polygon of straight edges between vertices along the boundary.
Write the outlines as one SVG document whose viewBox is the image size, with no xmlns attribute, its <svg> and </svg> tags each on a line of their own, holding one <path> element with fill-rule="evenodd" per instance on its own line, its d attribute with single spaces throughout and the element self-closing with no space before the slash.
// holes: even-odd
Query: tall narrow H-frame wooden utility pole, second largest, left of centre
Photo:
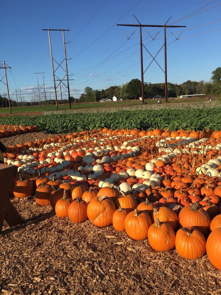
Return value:
<svg viewBox="0 0 221 295">
<path fill-rule="evenodd" d="M 54 88 L 55 88 L 56 109 L 58 108 L 58 107 L 57 107 L 57 92 L 56 92 L 56 89 L 57 89 L 57 87 L 59 86 L 59 84 L 56 86 L 56 82 L 55 82 L 55 81 L 60 81 L 60 83 L 64 84 L 64 86 L 67 87 L 67 90 L 68 90 L 68 99 L 69 99 L 69 107 L 70 107 L 70 109 L 71 109 L 69 81 L 70 81 L 70 80 L 74 80 L 74 79 L 69 79 L 69 77 L 68 77 L 68 70 L 67 70 L 67 60 L 68 60 L 68 59 L 67 59 L 67 57 L 66 57 L 66 46 L 65 46 L 65 44 L 68 43 L 68 42 L 65 42 L 65 31 L 70 31 L 70 30 L 65 30 L 65 29 L 59 29 L 59 30 L 58 30 L 58 29 L 42 29 L 42 31 L 48 31 L 48 36 L 49 36 L 49 45 L 50 45 L 51 62 L 52 62 L 52 73 L 53 73 L 53 81 L 54 81 Z M 62 32 L 63 32 L 63 42 L 64 42 L 64 55 L 65 55 L 65 58 L 62 60 L 61 63 L 58 63 L 58 62 L 52 57 L 50 31 L 62 31 Z M 57 65 L 58 65 L 57 68 L 56 68 L 55 70 L 54 70 L 54 64 L 53 64 L 53 61 L 55 61 L 55 63 L 57 63 Z M 63 63 L 63 61 L 65 61 L 65 67 L 66 67 L 66 69 L 64 69 L 64 68 L 62 67 L 62 65 L 61 65 L 61 64 Z M 62 78 L 62 79 L 59 79 L 59 78 L 56 76 L 55 72 L 57 71 L 57 69 L 58 69 L 59 67 L 62 68 L 62 70 L 66 72 L 66 74 L 65 74 L 66 79 L 65 79 L 65 76 L 64 76 L 64 78 Z M 70 76 L 70 75 L 69 75 L 69 76 Z M 55 79 L 55 77 L 56 77 L 57 79 Z M 63 83 L 62 81 L 67 81 L 67 85 L 65 85 L 65 83 Z"/>
</svg>

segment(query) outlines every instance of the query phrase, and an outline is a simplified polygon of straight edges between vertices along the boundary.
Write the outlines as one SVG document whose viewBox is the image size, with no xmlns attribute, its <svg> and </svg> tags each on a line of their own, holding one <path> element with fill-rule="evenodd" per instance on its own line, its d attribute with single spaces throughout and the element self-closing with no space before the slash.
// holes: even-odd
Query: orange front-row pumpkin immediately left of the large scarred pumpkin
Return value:
<svg viewBox="0 0 221 295">
<path fill-rule="evenodd" d="M 87 208 L 88 203 L 77 197 L 68 207 L 67 215 L 75 223 L 84 222 L 88 219 Z"/>
</svg>

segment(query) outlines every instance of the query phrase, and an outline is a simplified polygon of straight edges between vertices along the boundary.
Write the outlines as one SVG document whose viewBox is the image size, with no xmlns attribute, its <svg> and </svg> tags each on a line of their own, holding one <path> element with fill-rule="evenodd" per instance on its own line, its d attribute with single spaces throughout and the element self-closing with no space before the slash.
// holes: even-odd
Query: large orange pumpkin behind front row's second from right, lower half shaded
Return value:
<svg viewBox="0 0 221 295">
<path fill-rule="evenodd" d="M 195 227 L 204 236 L 209 234 L 210 216 L 202 208 L 198 207 L 199 201 L 184 207 L 179 212 L 179 227 Z"/>
</svg>

